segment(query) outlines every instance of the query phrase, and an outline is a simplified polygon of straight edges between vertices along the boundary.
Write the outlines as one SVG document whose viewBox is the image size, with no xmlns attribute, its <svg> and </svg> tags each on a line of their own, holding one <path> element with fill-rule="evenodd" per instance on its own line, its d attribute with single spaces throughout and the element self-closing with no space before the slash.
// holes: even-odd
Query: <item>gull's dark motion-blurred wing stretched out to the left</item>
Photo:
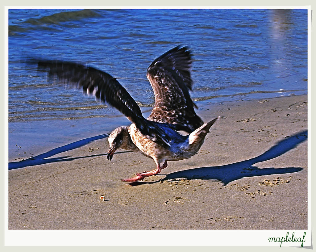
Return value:
<svg viewBox="0 0 316 252">
<path fill-rule="evenodd" d="M 124 87 L 106 72 L 81 64 L 56 60 L 29 59 L 37 63 L 38 69 L 45 69 L 51 77 L 70 87 L 94 95 L 97 101 L 118 109 L 149 139 L 162 146 L 170 146 L 170 138 L 161 129 L 161 123 L 146 120 L 136 101 Z"/>
</svg>

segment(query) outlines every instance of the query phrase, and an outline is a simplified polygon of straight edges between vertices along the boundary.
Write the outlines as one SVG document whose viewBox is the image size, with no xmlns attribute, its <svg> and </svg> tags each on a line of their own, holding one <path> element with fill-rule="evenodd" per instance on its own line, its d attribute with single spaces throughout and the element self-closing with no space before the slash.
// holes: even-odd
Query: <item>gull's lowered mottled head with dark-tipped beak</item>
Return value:
<svg viewBox="0 0 316 252">
<path fill-rule="evenodd" d="M 107 160 L 111 161 L 114 152 L 119 149 L 125 147 L 126 137 L 128 135 L 127 127 L 121 126 L 116 128 L 109 135 L 109 151 L 107 152 Z"/>
</svg>

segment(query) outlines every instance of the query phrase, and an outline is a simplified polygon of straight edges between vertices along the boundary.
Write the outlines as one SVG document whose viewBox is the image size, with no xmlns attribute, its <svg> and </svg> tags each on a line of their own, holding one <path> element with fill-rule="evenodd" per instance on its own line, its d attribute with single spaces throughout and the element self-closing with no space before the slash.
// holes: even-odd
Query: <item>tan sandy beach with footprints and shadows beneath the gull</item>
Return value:
<svg viewBox="0 0 316 252">
<path fill-rule="evenodd" d="M 199 153 L 133 185 L 154 161 L 105 135 L 11 163 L 9 229 L 307 229 L 307 95 L 197 113 L 222 117 Z"/>
</svg>

